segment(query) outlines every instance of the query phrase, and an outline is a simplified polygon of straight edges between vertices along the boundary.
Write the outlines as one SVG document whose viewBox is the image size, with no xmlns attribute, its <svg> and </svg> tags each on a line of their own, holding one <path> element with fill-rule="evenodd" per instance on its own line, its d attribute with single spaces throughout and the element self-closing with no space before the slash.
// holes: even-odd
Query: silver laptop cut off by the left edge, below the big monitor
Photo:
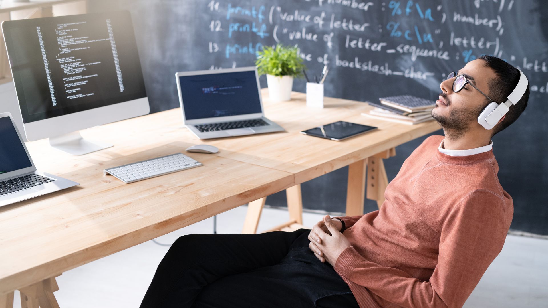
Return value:
<svg viewBox="0 0 548 308">
<path fill-rule="evenodd" d="M 37 171 L 12 115 L 0 113 L 0 207 L 76 185 Z"/>
</svg>

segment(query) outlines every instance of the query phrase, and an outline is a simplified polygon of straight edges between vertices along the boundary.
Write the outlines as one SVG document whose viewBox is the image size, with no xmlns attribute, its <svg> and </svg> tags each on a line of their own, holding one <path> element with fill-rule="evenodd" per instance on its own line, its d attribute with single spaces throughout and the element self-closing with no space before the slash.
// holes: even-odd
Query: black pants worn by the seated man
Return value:
<svg viewBox="0 0 548 308">
<path fill-rule="evenodd" d="M 333 267 L 311 252 L 309 232 L 181 236 L 141 308 L 358 307 Z"/>
</svg>

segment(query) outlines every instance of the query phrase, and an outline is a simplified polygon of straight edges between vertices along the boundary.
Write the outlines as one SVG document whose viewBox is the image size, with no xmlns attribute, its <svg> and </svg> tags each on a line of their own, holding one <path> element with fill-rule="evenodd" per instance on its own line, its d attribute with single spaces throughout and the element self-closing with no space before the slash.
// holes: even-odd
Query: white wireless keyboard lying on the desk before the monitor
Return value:
<svg viewBox="0 0 548 308">
<path fill-rule="evenodd" d="M 184 154 L 175 153 L 149 159 L 148 161 L 105 169 L 103 170 L 103 174 L 110 173 L 122 182 L 130 183 L 199 166 L 202 166 L 201 162 Z"/>
</svg>

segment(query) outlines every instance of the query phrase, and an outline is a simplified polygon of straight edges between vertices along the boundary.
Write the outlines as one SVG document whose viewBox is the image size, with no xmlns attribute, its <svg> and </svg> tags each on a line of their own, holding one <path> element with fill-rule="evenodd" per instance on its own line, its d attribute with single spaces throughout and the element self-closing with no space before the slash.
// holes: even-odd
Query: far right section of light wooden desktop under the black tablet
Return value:
<svg viewBox="0 0 548 308">
<path fill-rule="evenodd" d="M 440 129 L 436 121 L 409 126 L 364 117 L 361 112 L 372 107 L 363 102 L 326 97 L 325 107 L 318 109 L 306 107 L 304 93 L 293 92 L 292 100 L 286 102 L 270 101 L 267 89 L 262 89 L 261 93 L 266 117 L 280 124 L 286 132 L 197 142 L 230 149 L 220 156 L 294 173 L 297 184 Z M 343 141 L 299 133 L 336 121 L 379 129 Z"/>
</svg>

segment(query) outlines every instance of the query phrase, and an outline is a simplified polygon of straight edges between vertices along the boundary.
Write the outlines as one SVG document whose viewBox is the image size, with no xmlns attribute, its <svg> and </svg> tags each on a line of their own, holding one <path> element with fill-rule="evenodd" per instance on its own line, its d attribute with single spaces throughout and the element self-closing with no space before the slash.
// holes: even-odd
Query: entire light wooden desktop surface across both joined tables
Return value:
<svg viewBox="0 0 548 308">
<path fill-rule="evenodd" d="M 83 156 L 59 152 L 47 140 L 27 142 L 39 170 L 80 185 L 0 208 L 0 296 L 439 129 L 434 121 L 408 126 L 366 118 L 360 113 L 370 107 L 357 101 L 326 98 L 316 109 L 306 107 L 302 93 L 287 102 L 270 102 L 266 89 L 262 95 L 266 117 L 286 132 L 199 140 L 173 109 L 84 130 L 84 138 L 115 146 Z M 344 141 L 299 133 L 339 120 L 379 129 Z M 201 143 L 220 151 L 184 151 Z M 176 152 L 204 166 L 130 184 L 102 174 Z"/>
</svg>

